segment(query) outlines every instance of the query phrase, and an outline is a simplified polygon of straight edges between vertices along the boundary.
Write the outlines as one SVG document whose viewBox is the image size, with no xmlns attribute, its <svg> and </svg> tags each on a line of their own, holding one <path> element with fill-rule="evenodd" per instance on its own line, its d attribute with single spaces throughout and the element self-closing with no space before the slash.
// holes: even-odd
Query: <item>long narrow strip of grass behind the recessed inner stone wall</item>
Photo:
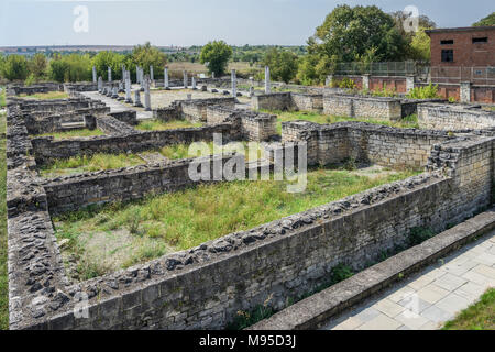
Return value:
<svg viewBox="0 0 495 352">
<path fill-rule="evenodd" d="M 309 112 L 309 111 L 277 111 L 277 110 L 263 110 L 266 113 L 273 113 L 277 116 L 277 131 L 282 133 L 282 122 L 295 121 L 295 120 L 305 120 L 320 124 L 330 124 L 337 122 L 345 122 L 345 121 L 355 121 L 355 122 L 367 122 L 375 124 L 383 124 L 393 128 L 400 129 L 418 129 L 418 117 L 416 114 L 406 117 L 400 121 L 387 121 L 387 120 L 378 120 L 378 119 L 366 119 L 366 118 L 349 118 L 349 117 L 338 117 L 338 116 L 328 116 L 318 112 Z"/>
</svg>

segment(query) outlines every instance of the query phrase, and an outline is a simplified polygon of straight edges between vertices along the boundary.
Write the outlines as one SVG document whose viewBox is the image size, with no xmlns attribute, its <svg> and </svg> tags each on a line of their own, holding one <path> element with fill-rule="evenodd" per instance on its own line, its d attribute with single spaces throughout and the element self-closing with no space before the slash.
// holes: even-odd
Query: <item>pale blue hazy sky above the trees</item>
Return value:
<svg viewBox="0 0 495 352">
<path fill-rule="evenodd" d="M 470 26 L 493 0 L 0 0 L 0 46 L 304 45 L 338 6 L 415 6 L 440 28 Z"/>
</svg>

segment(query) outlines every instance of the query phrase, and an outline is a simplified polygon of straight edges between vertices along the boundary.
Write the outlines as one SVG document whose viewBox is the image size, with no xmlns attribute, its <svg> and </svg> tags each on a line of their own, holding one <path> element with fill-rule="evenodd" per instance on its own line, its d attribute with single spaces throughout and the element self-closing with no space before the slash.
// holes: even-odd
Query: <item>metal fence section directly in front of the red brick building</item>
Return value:
<svg viewBox="0 0 495 352">
<path fill-rule="evenodd" d="M 491 66 L 433 66 L 430 76 L 431 81 L 438 84 L 471 81 L 474 85 L 495 85 L 495 67 Z"/>
</svg>

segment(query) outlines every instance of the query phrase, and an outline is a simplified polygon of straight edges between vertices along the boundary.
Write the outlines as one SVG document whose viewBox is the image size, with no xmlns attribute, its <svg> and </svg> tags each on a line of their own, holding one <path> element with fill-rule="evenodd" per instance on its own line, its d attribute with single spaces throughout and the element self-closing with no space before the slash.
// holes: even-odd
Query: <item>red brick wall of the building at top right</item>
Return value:
<svg viewBox="0 0 495 352">
<path fill-rule="evenodd" d="M 488 37 L 488 43 L 473 44 L 473 37 Z M 431 66 L 495 66 L 495 26 L 479 31 L 432 32 Z M 451 45 L 441 41 L 453 40 Z M 453 63 L 442 63 L 442 50 L 453 50 Z"/>
</svg>

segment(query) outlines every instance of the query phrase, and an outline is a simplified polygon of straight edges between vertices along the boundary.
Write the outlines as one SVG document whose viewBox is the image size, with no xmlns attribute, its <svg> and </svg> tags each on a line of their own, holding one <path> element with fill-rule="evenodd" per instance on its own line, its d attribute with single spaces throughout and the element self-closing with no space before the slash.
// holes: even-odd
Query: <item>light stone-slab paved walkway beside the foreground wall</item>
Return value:
<svg viewBox="0 0 495 352">
<path fill-rule="evenodd" d="M 439 329 L 490 287 L 495 287 L 495 231 L 332 319 L 323 330 Z"/>
</svg>

